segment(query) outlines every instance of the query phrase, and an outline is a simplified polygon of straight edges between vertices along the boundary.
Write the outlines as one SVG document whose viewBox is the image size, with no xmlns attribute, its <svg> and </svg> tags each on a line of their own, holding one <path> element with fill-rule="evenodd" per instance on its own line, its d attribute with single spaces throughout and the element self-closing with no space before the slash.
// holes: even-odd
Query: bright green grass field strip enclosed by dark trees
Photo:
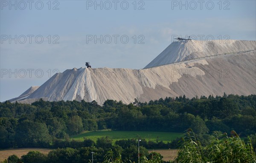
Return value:
<svg viewBox="0 0 256 163">
<path fill-rule="evenodd" d="M 110 137 L 114 142 L 116 140 L 121 139 L 143 139 L 151 140 L 156 142 L 163 141 L 164 143 L 172 142 L 177 137 L 182 137 L 183 133 L 175 133 L 175 132 L 140 132 L 140 131 L 111 131 L 111 130 L 101 130 L 101 131 L 93 131 L 93 132 L 83 132 L 81 134 L 77 134 L 71 136 L 72 140 L 83 141 L 84 137 L 91 139 L 96 142 L 99 137 Z"/>
</svg>

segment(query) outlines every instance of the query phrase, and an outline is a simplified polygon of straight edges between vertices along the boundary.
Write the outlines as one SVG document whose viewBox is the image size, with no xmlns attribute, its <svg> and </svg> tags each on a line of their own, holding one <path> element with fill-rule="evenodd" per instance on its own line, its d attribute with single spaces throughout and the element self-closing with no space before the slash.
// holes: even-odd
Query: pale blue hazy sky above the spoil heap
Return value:
<svg viewBox="0 0 256 163">
<path fill-rule="evenodd" d="M 256 0 L 0 0 L 0 102 L 85 62 L 143 69 L 190 35 L 256 40 Z"/>
</svg>

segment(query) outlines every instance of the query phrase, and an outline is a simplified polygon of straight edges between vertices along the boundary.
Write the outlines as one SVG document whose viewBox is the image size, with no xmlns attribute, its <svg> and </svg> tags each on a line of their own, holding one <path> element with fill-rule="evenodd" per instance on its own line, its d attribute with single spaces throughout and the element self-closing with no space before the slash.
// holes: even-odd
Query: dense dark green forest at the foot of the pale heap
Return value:
<svg viewBox="0 0 256 163">
<path fill-rule="evenodd" d="M 39 100 L 0 103 L 1 149 L 11 147 L 63 147 L 61 140 L 85 130 L 184 132 L 193 129 L 202 143 L 213 131 L 235 130 L 240 136 L 256 135 L 256 95 L 187 98 L 166 97 L 124 104 L 96 101 Z M 71 146 L 71 145 L 67 145 Z M 66 146 L 66 147 L 67 147 Z M 81 145 L 82 146 L 82 145 Z"/>
</svg>

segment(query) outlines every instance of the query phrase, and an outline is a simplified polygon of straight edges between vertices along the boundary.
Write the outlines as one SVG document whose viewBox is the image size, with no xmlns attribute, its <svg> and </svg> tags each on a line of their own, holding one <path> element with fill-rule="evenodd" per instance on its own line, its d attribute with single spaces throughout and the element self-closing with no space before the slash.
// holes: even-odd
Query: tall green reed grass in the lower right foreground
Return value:
<svg viewBox="0 0 256 163">
<path fill-rule="evenodd" d="M 178 156 L 174 163 L 256 163 L 250 137 L 244 142 L 235 131 L 233 136 L 227 133 L 214 132 L 207 146 L 195 137 L 192 130 L 188 130 L 181 139 Z"/>
</svg>

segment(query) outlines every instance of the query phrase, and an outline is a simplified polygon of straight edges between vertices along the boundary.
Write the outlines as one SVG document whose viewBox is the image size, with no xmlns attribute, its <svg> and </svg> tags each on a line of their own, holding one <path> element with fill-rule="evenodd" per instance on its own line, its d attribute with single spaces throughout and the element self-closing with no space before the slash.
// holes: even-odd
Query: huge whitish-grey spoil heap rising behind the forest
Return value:
<svg viewBox="0 0 256 163">
<path fill-rule="evenodd" d="M 67 69 L 10 101 L 96 100 L 102 105 L 107 99 L 131 103 L 183 94 L 256 94 L 256 41 L 229 41 L 173 42 L 147 69 Z"/>
</svg>

